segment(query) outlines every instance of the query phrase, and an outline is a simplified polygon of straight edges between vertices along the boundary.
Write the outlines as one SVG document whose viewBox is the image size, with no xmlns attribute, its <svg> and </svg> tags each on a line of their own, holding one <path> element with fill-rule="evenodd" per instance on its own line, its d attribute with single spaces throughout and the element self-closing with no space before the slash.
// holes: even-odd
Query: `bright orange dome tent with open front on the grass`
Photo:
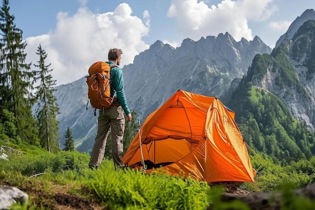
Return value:
<svg viewBox="0 0 315 210">
<path fill-rule="evenodd" d="M 148 115 L 122 160 L 131 168 L 144 162 L 148 173 L 162 167 L 206 182 L 255 183 L 234 112 L 218 98 L 182 90 Z"/>
</svg>

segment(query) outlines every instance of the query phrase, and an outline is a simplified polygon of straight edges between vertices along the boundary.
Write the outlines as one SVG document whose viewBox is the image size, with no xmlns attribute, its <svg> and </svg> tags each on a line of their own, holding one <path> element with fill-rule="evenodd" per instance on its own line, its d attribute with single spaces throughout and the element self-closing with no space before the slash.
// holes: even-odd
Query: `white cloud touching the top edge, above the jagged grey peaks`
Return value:
<svg viewBox="0 0 315 210">
<path fill-rule="evenodd" d="M 243 37 L 252 40 L 252 30 L 248 20 L 265 20 L 277 8 L 268 6 L 273 0 L 224 0 L 210 8 L 205 2 L 197 0 L 172 0 L 168 11 L 169 18 L 175 18 L 179 40 L 191 38 L 195 41 L 209 35 L 217 36 L 228 32 L 237 41 Z"/>
</svg>

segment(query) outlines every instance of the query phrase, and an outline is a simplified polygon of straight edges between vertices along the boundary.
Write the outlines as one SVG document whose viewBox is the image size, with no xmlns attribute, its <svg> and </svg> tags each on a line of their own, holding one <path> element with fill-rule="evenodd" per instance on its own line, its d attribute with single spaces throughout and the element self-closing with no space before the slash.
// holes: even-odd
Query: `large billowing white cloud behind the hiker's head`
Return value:
<svg viewBox="0 0 315 210">
<path fill-rule="evenodd" d="M 149 25 L 131 14 L 131 8 L 125 3 L 120 4 L 114 12 L 103 14 L 93 14 L 85 7 L 78 9 L 71 17 L 60 12 L 54 31 L 26 39 L 27 61 L 37 64 L 39 57 L 36 49 L 41 44 L 48 54 L 46 64 L 51 63 L 51 74 L 57 80 L 57 85 L 87 75 L 93 62 L 107 60 L 110 48 L 124 51 L 121 67 L 132 63 L 135 55 L 149 47 L 142 41 L 149 31 Z"/>
</svg>

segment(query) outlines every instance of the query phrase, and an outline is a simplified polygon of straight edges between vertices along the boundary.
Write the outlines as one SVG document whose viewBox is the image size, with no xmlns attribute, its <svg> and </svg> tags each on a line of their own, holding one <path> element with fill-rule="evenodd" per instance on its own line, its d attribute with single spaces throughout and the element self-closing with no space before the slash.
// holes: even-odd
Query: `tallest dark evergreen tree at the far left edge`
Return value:
<svg viewBox="0 0 315 210">
<path fill-rule="evenodd" d="M 26 63 L 22 30 L 16 27 L 10 14 L 9 0 L 3 0 L 0 8 L 0 105 L 14 113 L 17 139 L 38 145 L 37 128 L 31 110 L 33 72 Z"/>
</svg>

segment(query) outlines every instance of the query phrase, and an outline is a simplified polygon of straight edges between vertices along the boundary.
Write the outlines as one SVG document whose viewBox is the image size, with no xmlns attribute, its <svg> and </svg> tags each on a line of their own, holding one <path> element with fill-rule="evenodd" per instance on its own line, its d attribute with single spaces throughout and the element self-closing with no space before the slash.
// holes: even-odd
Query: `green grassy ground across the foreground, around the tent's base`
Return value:
<svg viewBox="0 0 315 210">
<path fill-rule="evenodd" d="M 286 167 L 262 156 L 251 159 L 258 170 L 255 181 L 259 191 L 293 190 L 314 183 L 314 157 Z M 99 170 L 90 170 L 89 160 L 87 153 L 77 151 L 11 155 L 9 160 L 0 159 L 0 185 L 16 186 L 29 194 L 27 203 L 13 209 L 206 209 L 214 204 L 213 209 L 226 209 L 223 206 L 227 204 L 218 200 L 226 185 L 159 172 L 114 170 L 111 160 L 103 160 Z M 253 183 L 234 183 L 234 188 L 248 193 L 258 191 Z M 307 206 L 314 206 L 315 202 L 306 200 L 300 206 L 311 209 Z M 293 196 L 285 200 L 281 209 L 297 201 Z M 249 208 L 244 205 L 238 209 Z"/>
</svg>

